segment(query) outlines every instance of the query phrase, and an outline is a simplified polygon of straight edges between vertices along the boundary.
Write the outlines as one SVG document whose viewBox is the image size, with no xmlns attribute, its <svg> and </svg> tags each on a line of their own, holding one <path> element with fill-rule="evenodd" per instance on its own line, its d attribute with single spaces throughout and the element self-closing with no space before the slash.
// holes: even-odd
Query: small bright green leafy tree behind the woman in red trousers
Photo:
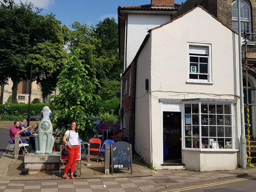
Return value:
<svg viewBox="0 0 256 192">
<path fill-rule="evenodd" d="M 58 76 L 60 94 L 53 96 L 51 102 L 55 112 L 53 120 L 57 127 L 66 128 L 75 120 L 78 128 L 84 130 L 91 127 L 92 116 L 98 114 L 100 97 L 96 89 L 99 84 L 96 78 L 88 76 L 85 68 L 89 66 L 79 58 L 83 52 L 72 49 L 71 52 L 66 67 Z"/>
</svg>

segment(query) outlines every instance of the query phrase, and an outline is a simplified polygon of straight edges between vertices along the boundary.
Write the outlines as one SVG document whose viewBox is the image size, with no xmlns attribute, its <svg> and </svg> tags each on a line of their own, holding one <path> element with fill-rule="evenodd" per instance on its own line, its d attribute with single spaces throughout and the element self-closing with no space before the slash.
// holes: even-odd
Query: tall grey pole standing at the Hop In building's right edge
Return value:
<svg viewBox="0 0 256 192">
<path fill-rule="evenodd" d="M 240 113 L 241 114 L 241 116 L 240 116 L 240 118 L 241 118 L 240 154 L 241 154 L 241 168 L 246 169 L 240 0 L 237 0 L 236 3 L 237 3 L 237 17 L 238 17 L 239 85 L 240 85 L 240 108 L 241 108 L 241 113 Z"/>
</svg>

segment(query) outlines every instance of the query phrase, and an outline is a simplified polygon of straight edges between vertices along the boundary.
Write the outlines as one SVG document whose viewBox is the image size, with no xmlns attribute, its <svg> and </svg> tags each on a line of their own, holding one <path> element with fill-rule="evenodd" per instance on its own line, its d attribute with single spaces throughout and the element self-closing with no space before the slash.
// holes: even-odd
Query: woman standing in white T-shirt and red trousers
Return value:
<svg viewBox="0 0 256 192">
<path fill-rule="evenodd" d="M 68 141 L 67 141 L 68 140 Z M 75 179 L 73 173 L 76 167 L 76 159 L 78 153 L 80 153 L 81 143 L 78 140 L 78 129 L 76 121 L 73 121 L 70 125 L 69 130 L 67 130 L 63 137 L 63 142 L 68 146 L 68 163 L 65 166 L 64 174 L 62 178 L 65 179 Z M 67 172 L 70 168 L 70 177 L 68 177 Z"/>
</svg>

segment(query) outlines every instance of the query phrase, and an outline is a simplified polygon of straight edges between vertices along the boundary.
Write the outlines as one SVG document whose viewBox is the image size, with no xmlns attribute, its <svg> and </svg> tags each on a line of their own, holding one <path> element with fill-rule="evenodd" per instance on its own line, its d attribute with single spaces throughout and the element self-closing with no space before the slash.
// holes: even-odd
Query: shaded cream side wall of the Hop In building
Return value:
<svg viewBox="0 0 256 192">
<path fill-rule="evenodd" d="M 150 37 L 149 37 L 150 39 Z M 137 87 L 136 88 L 136 106 L 135 106 L 135 151 L 143 157 L 146 163 L 151 162 L 151 134 L 150 134 L 150 98 L 145 94 L 145 79 L 150 77 L 150 55 L 151 41 L 146 43 L 137 63 Z M 138 75 L 139 74 L 139 75 Z M 149 90 L 150 91 L 150 85 Z"/>
</svg>

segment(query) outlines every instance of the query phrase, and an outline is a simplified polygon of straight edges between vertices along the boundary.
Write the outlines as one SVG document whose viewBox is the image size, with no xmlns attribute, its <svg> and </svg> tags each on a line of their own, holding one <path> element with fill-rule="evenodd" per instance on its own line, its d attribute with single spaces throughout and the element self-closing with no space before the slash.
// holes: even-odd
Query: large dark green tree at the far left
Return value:
<svg viewBox="0 0 256 192">
<path fill-rule="evenodd" d="M 33 8 L 31 3 L 15 4 L 14 0 L 3 0 L 0 5 L 0 82 L 6 84 L 11 78 L 12 103 L 17 101 L 19 82 L 30 79 L 31 66 L 33 70 L 44 71 L 47 79 L 56 71 L 60 73 L 63 59 L 67 57 L 63 46 L 69 29 L 60 26 L 61 22 L 53 14 L 42 16 L 41 9 L 33 11 Z M 32 81 L 40 73 L 33 73 Z M 44 98 L 48 94 L 44 90 L 52 92 L 56 86 L 56 80 L 49 82 L 52 84 L 41 84 L 37 79 Z"/>
</svg>

